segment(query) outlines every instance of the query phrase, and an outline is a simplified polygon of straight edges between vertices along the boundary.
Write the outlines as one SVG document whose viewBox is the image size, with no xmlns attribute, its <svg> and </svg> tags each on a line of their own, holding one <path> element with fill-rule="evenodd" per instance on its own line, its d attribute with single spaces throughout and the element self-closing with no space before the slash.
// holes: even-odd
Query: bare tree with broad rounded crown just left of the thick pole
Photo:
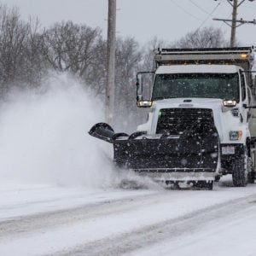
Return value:
<svg viewBox="0 0 256 256">
<path fill-rule="evenodd" d="M 106 58 L 102 55 L 105 43 L 99 28 L 77 25 L 72 21 L 56 23 L 45 32 L 44 44 L 51 67 L 73 73 L 86 84 L 96 87 L 98 93 L 102 91 Z"/>
</svg>

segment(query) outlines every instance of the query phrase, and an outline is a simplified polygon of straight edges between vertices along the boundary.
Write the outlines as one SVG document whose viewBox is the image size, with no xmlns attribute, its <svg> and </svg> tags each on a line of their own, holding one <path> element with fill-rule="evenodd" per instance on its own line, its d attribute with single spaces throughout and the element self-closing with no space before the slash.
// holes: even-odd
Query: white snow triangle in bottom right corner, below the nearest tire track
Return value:
<svg viewBox="0 0 256 256">
<path fill-rule="evenodd" d="M 190 233 L 172 240 L 148 246 L 130 255 L 219 255 L 253 256 L 255 247 L 255 210 L 236 214 L 236 219 L 224 218 L 224 221 L 205 225 L 196 233 Z"/>
</svg>

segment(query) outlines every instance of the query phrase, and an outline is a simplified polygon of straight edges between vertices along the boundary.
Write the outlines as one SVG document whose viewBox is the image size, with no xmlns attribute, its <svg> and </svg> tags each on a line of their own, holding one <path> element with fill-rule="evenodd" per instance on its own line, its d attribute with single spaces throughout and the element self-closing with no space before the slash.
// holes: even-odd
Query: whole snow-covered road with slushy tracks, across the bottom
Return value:
<svg viewBox="0 0 256 256">
<path fill-rule="evenodd" d="M 256 184 L 227 183 L 1 189 L 0 255 L 255 255 Z"/>
</svg>

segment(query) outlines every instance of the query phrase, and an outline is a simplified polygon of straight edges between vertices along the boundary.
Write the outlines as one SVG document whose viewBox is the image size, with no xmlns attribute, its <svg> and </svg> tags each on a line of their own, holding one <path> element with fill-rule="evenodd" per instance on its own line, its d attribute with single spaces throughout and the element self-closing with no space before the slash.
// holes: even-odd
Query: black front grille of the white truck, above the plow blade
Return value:
<svg viewBox="0 0 256 256">
<path fill-rule="evenodd" d="M 163 108 L 160 109 L 156 133 L 177 135 L 201 125 L 214 125 L 212 109 Z"/>
</svg>

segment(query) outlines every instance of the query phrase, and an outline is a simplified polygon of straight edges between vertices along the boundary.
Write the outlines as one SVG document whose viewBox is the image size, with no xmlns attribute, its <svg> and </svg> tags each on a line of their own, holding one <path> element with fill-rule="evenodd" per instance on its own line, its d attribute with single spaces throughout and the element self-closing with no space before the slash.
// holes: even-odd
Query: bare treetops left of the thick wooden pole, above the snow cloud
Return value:
<svg viewBox="0 0 256 256">
<path fill-rule="evenodd" d="M 20 19 L 18 9 L 0 7 L 0 88 L 38 86 L 49 70 L 69 72 L 96 93 L 106 77 L 105 50 L 99 28 L 71 21 L 42 28 L 38 20 Z"/>
</svg>

